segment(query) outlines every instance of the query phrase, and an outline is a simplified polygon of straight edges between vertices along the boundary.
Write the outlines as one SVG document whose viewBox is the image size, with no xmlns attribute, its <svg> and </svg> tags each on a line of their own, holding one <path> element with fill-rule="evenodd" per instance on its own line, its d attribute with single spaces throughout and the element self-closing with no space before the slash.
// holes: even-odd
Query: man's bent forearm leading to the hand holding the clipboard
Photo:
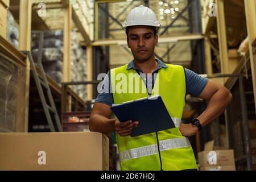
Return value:
<svg viewBox="0 0 256 182">
<path fill-rule="evenodd" d="M 109 119 L 100 114 L 94 114 L 90 117 L 90 131 L 98 131 L 100 133 L 109 134 L 114 131 L 115 119 Z"/>
</svg>

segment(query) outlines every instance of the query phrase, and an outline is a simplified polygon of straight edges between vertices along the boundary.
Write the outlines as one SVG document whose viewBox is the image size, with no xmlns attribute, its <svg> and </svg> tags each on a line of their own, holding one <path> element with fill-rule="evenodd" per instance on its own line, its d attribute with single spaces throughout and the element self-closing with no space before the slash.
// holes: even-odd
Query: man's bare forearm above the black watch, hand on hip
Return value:
<svg viewBox="0 0 256 182">
<path fill-rule="evenodd" d="M 209 100 L 207 109 L 197 117 L 201 125 L 206 126 L 213 121 L 213 119 L 217 118 L 226 109 L 226 106 L 228 106 L 231 100 L 232 94 L 226 89 L 220 89 L 214 93 Z"/>
</svg>

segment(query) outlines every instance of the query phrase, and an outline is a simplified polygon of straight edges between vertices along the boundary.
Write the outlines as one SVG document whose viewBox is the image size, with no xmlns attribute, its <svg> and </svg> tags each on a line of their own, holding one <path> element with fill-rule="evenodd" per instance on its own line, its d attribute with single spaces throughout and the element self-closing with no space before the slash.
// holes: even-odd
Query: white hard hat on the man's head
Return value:
<svg viewBox="0 0 256 182">
<path fill-rule="evenodd" d="M 123 24 L 123 28 L 130 26 L 144 25 L 156 27 L 156 32 L 158 32 L 161 24 L 156 19 L 154 11 L 146 6 L 135 7 L 127 16 L 127 20 Z"/>
</svg>

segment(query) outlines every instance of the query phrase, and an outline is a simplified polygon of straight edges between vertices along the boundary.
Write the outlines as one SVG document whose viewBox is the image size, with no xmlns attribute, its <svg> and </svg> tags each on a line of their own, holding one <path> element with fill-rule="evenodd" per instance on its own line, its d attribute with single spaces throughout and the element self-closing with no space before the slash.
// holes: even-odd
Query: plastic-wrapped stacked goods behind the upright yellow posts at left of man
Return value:
<svg viewBox="0 0 256 182">
<path fill-rule="evenodd" d="M 38 59 L 38 41 L 39 34 L 32 35 L 32 56 L 35 61 Z M 63 78 L 63 31 L 45 32 L 43 47 L 44 71 L 60 83 Z M 71 33 L 71 81 L 86 81 L 86 51 L 81 48 L 76 31 Z M 74 85 L 72 89 L 86 101 L 85 85 Z"/>
</svg>

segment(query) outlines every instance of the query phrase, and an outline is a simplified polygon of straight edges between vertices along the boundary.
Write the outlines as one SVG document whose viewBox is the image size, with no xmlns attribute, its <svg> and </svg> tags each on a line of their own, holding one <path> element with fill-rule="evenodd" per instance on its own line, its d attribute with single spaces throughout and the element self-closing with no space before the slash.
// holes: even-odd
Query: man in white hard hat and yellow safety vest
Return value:
<svg viewBox="0 0 256 182">
<path fill-rule="evenodd" d="M 148 7 L 139 6 L 131 10 L 123 27 L 134 60 L 122 67 L 111 69 L 105 77 L 104 90 L 111 90 L 113 93 L 98 95 L 90 115 L 90 131 L 117 133 L 122 170 L 197 169 L 191 144 L 186 137 L 195 135 L 201 127 L 208 125 L 220 115 L 232 100 L 232 94 L 224 86 L 179 65 L 164 64 L 160 60 L 155 60 L 154 49 L 158 44 L 157 33 L 160 23 Z M 115 75 L 129 77 L 131 73 L 141 76 L 139 79 L 145 83 L 144 88 L 152 81 L 152 89 L 147 89 L 147 93 L 114 92 L 118 87 Z M 156 76 L 147 75 L 148 73 L 154 73 Z M 129 90 L 132 86 L 134 85 L 128 80 L 126 89 Z M 154 92 L 156 87 L 157 93 Z M 139 121 L 119 122 L 117 118 L 110 119 L 112 104 L 121 104 L 155 94 L 162 97 L 175 122 L 174 129 L 130 137 L 131 131 L 139 125 Z M 209 101 L 204 113 L 189 124 L 180 123 L 186 94 Z"/>
</svg>

